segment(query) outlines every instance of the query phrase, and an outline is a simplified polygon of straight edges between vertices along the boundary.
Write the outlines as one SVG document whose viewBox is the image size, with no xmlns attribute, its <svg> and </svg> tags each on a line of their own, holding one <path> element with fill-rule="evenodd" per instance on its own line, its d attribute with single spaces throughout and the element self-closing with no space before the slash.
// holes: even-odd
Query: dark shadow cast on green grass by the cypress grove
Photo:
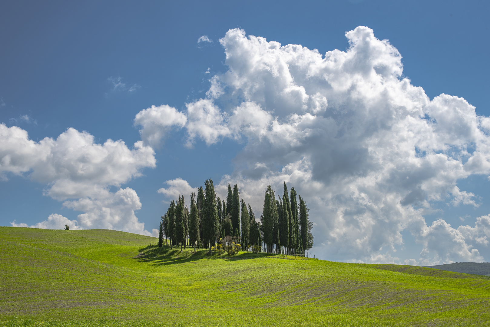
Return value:
<svg viewBox="0 0 490 327">
<path fill-rule="evenodd" d="M 284 255 L 270 254 L 270 253 L 253 253 L 253 252 L 241 252 L 235 255 L 228 255 L 227 253 L 212 252 L 209 253 L 207 249 L 200 249 L 194 252 L 194 249 L 186 249 L 180 252 L 180 247 L 175 246 L 163 246 L 158 248 L 153 245 L 148 245 L 144 248 L 138 249 L 139 254 L 133 259 L 138 262 L 147 262 L 152 265 L 172 265 L 178 263 L 185 263 L 190 261 L 196 261 L 201 259 L 224 259 L 226 261 L 235 261 L 243 259 L 255 259 L 261 257 L 279 257 L 284 258 Z"/>
</svg>

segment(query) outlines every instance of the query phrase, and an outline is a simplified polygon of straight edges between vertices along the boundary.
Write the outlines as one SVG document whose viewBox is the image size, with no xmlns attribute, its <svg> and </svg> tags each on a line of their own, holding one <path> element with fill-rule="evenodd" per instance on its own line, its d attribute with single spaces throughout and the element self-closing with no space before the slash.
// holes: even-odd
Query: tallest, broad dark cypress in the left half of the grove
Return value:
<svg viewBox="0 0 490 327">
<path fill-rule="evenodd" d="M 211 178 L 207 179 L 204 185 L 205 193 L 202 216 L 203 241 L 209 243 L 209 252 L 211 252 L 211 243 L 214 243 L 218 236 L 218 207 L 216 205 L 213 180 Z"/>
</svg>

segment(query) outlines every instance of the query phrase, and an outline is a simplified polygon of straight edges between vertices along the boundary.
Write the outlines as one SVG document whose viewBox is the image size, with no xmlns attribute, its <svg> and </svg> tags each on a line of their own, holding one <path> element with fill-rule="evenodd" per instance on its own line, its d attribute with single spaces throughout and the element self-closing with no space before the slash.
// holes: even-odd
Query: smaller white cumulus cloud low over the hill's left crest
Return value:
<svg viewBox="0 0 490 327">
<path fill-rule="evenodd" d="M 76 221 L 52 214 L 32 227 L 63 228 L 68 224 L 72 229 L 108 228 L 149 235 L 134 214 L 141 208 L 136 192 L 130 188 L 109 191 L 110 186 L 120 187 L 140 176 L 142 168 L 155 167 L 154 151 L 142 141 L 129 150 L 121 140 L 96 144 L 89 133 L 69 128 L 56 140 L 34 142 L 24 129 L 1 124 L 0 158 L 2 178 L 8 173 L 26 174 L 47 185 L 45 195 L 84 212 Z M 12 225 L 27 226 L 15 221 Z"/>
</svg>

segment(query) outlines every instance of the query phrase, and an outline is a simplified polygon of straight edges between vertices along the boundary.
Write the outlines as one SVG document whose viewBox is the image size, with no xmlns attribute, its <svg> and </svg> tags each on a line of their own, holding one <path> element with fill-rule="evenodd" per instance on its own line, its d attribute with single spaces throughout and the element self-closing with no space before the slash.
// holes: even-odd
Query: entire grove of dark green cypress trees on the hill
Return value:
<svg viewBox="0 0 490 327">
<path fill-rule="evenodd" d="M 240 200 L 238 185 L 233 190 L 228 184 L 226 201 L 216 197 L 212 179 L 191 194 L 191 209 L 185 204 L 184 196 L 172 200 L 167 213 L 162 216 L 158 246 L 162 247 L 164 235 L 166 245 L 211 249 L 226 236 L 241 241 L 242 248 L 252 245 L 269 253 L 303 253 L 313 247 L 309 208 L 294 188 L 288 193 L 284 182 L 284 193 L 278 200 L 274 191 L 267 187 L 264 209 L 260 221 L 250 204 Z"/>
</svg>

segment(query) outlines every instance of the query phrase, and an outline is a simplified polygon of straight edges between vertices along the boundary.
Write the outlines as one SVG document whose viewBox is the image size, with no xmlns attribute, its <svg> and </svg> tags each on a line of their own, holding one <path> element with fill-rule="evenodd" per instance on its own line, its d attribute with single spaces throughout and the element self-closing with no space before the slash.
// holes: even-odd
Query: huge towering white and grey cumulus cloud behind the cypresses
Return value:
<svg viewBox="0 0 490 327">
<path fill-rule="evenodd" d="M 207 98 L 183 112 L 188 144 L 245 140 L 233 176 L 223 176 L 217 192 L 238 182 L 260 210 L 265 187 L 280 190 L 285 180 L 309 200 L 315 250 L 332 259 L 489 259 L 487 216 L 454 228 L 442 219 L 428 226 L 424 215 L 437 201 L 478 206 L 457 182 L 489 175 L 490 119 L 462 98 L 431 101 L 402 75 L 398 50 L 370 28 L 345 36 L 350 47 L 324 57 L 242 29 L 220 40 L 228 70 L 212 76 Z M 422 247 L 416 258 L 396 256 L 404 230 Z"/>
</svg>

